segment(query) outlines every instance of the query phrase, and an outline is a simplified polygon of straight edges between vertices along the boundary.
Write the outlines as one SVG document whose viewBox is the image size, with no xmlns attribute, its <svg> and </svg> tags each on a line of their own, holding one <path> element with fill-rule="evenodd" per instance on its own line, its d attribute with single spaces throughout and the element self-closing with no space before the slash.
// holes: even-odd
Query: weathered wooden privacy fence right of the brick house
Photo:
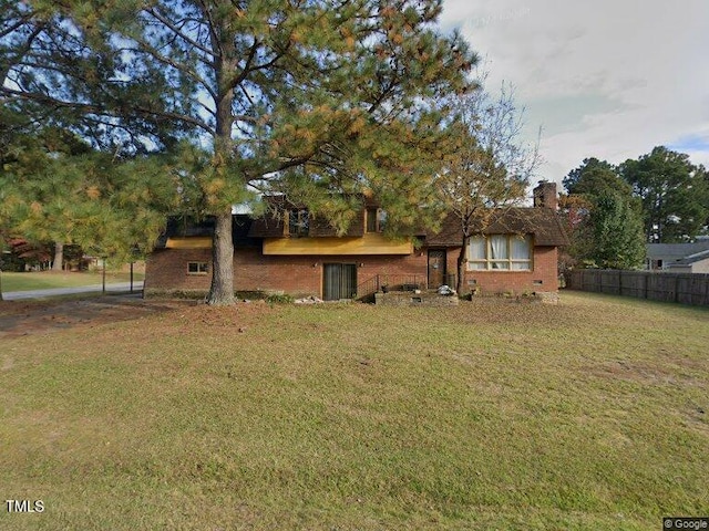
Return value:
<svg viewBox="0 0 709 531">
<path fill-rule="evenodd" d="M 569 290 L 709 306 L 709 274 L 579 269 L 565 280 Z"/>
</svg>

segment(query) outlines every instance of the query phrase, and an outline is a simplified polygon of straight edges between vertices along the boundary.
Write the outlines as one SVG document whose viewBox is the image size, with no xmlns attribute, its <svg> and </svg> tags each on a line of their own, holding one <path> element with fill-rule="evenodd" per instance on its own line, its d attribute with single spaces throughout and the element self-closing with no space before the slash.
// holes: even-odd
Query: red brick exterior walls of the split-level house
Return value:
<svg viewBox="0 0 709 531">
<path fill-rule="evenodd" d="M 458 249 L 448 249 L 448 273 L 456 273 Z M 483 293 L 514 291 L 556 291 L 556 248 L 535 248 L 534 271 L 467 271 L 466 283 Z M 147 260 L 145 292 L 206 292 L 212 282 L 212 251 L 209 249 L 162 249 Z M 209 262 L 206 275 L 187 274 L 187 262 Z M 234 287 L 237 291 L 284 291 L 294 296 L 322 296 L 323 263 L 357 264 L 357 283 L 362 284 L 378 274 L 425 278 L 428 250 L 410 256 L 261 256 L 258 248 L 237 249 L 234 257 Z M 541 281 L 541 284 L 535 283 Z"/>
</svg>

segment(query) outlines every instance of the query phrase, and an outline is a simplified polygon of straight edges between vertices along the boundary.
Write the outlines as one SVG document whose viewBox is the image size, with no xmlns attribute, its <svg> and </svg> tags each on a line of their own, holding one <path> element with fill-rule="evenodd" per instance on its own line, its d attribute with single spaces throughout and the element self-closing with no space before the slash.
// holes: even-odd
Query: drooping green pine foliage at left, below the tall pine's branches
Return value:
<svg viewBox="0 0 709 531">
<path fill-rule="evenodd" d="M 177 206 L 178 177 L 162 157 L 94 152 L 66 131 L 18 135 L 0 154 L 0 220 L 29 242 L 81 246 L 125 261 L 143 253 Z M 54 261 L 58 261 L 56 253 Z"/>
</svg>

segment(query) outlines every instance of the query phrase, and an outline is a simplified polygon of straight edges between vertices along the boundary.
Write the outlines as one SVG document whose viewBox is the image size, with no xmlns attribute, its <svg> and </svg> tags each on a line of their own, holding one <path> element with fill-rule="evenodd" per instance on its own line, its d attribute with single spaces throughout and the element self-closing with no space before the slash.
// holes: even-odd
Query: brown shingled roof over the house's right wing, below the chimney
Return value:
<svg viewBox="0 0 709 531">
<path fill-rule="evenodd" d="M 456 216 L 449 215 L 442 222 L 438 233 L 429 233 L 427 246 L 460 247 L 461 222 Z M 540 247 L 568 246 L 566 231 L 551 208 L 505 208 L 495 211 L 486 222 L 480 220 L 473 226 L 474 233 L 483 235 L 534 235 L 535 244 Z"/>
</svg>

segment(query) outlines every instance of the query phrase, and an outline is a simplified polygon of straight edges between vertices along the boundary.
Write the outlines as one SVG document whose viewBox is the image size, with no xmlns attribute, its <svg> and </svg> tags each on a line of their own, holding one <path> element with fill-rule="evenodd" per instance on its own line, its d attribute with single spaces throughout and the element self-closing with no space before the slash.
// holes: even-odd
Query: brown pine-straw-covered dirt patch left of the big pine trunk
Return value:
<svg viewBox="0 0 709 531">
<path fill-rule="evenodd" d="M 2 301 L 0 302 L 0 340 L 78 326 L 131 321 L 196 304 L 194 301 L 143 300 L 138 294 L 69 301 Z"/>
</svg>

